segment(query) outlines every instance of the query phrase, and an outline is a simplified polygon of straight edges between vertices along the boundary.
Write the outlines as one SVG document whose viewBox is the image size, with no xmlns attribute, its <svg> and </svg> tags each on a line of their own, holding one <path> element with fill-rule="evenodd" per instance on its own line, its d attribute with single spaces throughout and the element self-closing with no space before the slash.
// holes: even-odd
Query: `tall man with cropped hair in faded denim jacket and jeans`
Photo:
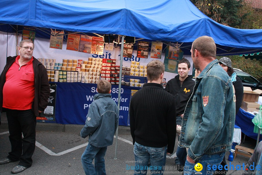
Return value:
<svg viewBox="0 0 262 175">
<path fill-rule="evenodd" d="M 178 142 L 187 148 L 184 174 L 200 170 L 202 174 L 213 174 L 212 166 L 218 166 L 231 149 L 236 98 L 231 80 L 215 55 L 213 38 L 201 36 L 193 42 L 191 57 L 201 74 L 185 108 Z M 195 169 L 197 163 L 203 169 Z"/>
</svg>

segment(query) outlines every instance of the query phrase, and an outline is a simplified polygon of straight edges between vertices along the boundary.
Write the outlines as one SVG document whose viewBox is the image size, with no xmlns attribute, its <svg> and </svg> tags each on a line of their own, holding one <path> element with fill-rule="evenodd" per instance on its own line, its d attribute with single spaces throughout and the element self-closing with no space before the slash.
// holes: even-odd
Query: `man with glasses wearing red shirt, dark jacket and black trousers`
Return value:
<svg viewBox="0 0 262 175">
<path fill-rule="evenodd" d="M 6 112 L 11 143 L 11 152 L 0 164 L 19 160 L 13 174 L 32 164 L 36 116 L 45 110 L 50 95 L 46 69 L 32 56 L 33 42 L 23 40 L 18 49 L 20 55 L 8 57 L 0 76 L 0 111 Z"/>
</svg>

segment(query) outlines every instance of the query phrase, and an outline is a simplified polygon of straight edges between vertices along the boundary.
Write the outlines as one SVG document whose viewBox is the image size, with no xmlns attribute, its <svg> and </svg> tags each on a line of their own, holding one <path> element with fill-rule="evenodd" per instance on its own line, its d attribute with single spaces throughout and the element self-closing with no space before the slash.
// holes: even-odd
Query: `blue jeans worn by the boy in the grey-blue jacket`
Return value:
<svg viewBox="0 0 262 175">
<path fill-rule="evenodd" d="M 84 171 L 88 175 L 106 175 L 105 171 L 105 153 L 107 146 L 99 148 L 88 144 L 84 151 L 81 161 Z M 92 164 L 95 158 L 95 167 Z"/>
</svg>

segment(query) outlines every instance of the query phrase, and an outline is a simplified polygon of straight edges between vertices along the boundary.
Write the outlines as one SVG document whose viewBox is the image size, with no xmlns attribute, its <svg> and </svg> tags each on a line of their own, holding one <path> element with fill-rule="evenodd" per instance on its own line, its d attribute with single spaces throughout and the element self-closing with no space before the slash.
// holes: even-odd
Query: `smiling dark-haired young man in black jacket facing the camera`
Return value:
<svg viewBox="0 0 262 175">
<path fill-rule="evenodd" d="M 183 58 L 178 63 L 178 75 L 167 82 L 165 90 L 174 95 L 176 100 L 176 124 L 181 126 L 187 101 L 189 100 L 195 85 L 192 75 L 188 75 L 190 71 L 190 62 Z M 178 171 L 183 171 L 187 152 L 185 148 L 178 147 L 176 150 L 176 164 Z"/>
</svg>

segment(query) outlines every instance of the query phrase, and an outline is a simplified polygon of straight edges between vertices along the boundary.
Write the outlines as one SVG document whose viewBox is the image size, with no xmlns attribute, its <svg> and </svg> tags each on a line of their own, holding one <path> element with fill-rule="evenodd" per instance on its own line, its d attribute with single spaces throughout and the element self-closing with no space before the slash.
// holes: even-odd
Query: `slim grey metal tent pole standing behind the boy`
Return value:
<svg viewBox="0 0 262 175">
<path fill-rule="evenodd" d="M 117 106 L 118 111 L 120 108 L 120 97 L 121 97 L 121 80 L 122 80 L 122 64 L 123 64 L 123 50 L 124 50 L 124 35 L 122 35 L 121 40 L 121 53 L 120 53 L 120 72 L 119 72 L 119 85 L 118 85 L 118 100 L 117 100 Z M 118 116 L 119 117 L 119 116 Z M 119 123 L 119 122 L 118 122 Z M 114 159 L 117 159 L 116 152 L 117 152 L 117 138 L 118 138 L 118 124 L 116 128 L 116 146 L 115 146 L 115 157 Z"/>
</svg>

